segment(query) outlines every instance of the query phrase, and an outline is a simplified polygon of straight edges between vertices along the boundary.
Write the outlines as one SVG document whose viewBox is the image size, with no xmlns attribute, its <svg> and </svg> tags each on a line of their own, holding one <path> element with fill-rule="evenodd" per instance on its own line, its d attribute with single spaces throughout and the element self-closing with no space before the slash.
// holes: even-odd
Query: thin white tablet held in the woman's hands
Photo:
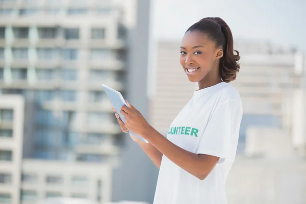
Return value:
<svg viewBox="0 0 306 204">
<path fill-rule="evenodd" d="M 127 104 L 125 103 L 125 100 L 122 96 L 122 94 L 119 91 L 116 91 L 115 89 L 112 89 L 108 86 L 106 86 L 105 84 L 102 85 L 104 88 L 105 93 L 107 94 L 107 96 L 109 97 L 109 99 L 111 100 L 112 105 L 114 106 L 114 108 L 116 109 L 117 113 L 119 114 L 121 120 L 124 123 L 124 116 L 120 113 L 119 110 L 121 110 L 122 106 L 127 106 Z M 136 135 L 134 133 L 132 133 L 130 131 L 130 134 L 138 137 L 139 139 L 143 140 L 144 142 L 148 143 L 147 140 L 143 139 L 142 137 L 140 137 L 139 135 Z"/>
</svg>

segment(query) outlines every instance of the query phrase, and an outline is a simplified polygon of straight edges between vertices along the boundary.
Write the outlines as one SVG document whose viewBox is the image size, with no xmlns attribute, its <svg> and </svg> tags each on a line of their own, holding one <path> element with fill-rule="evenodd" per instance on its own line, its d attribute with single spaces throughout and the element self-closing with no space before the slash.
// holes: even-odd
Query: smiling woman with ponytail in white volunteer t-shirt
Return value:
<svg viewBox="0 0 306 204">
<path fill-rule="evenodd" d="M 228 83 L 236 79 L 239 59 L 228 25 L 218 17 L 203 18 L 186 31 L 180 57 L 189 81 L 199 89 L 173 120 L 167 137 L 128 102 L 120 110 L 125 125 L 116 113 L 123 132 L 149 142 L 131 135 L 160 168 L 155 204 L 227 203 L 225 181 L 242 118 L 240 95 Z"/>
</svg>

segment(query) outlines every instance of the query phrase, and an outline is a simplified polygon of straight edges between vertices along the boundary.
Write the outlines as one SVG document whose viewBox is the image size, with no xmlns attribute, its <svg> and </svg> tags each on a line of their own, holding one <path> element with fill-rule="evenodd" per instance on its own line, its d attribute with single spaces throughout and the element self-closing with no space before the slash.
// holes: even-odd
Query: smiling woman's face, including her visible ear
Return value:
<svg viewBox="0 0 306 204">
<path fill-rule="evenodd" d="M 187 32 L 182 40 L 180 62 L 190 82 L 200 82 L 213 69 L 218 69 L 216 61 L 223 56 L 206 34 Z M 214 71 L 218 74 L 218 70 Z"/>
</svg>

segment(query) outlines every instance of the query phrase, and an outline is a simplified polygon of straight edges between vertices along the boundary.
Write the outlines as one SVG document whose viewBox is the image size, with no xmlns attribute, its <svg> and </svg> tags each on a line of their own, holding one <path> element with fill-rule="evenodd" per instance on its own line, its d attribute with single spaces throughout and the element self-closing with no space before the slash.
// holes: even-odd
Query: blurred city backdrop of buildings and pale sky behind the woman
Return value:
<svg viewBox="0 0 306 204">
<path fill-rule="evenodd" d="M 158 168 L 121 133 L 106 84 L 161 134 L 197 89 L 188 27 L 223 18 L 244 115 L 228 203 L 306 203 L 306 1 L 0 0 L 0 204 L 154 199 Z M 180 90 L 180 91 L 175 91 Z"/>
</svg>

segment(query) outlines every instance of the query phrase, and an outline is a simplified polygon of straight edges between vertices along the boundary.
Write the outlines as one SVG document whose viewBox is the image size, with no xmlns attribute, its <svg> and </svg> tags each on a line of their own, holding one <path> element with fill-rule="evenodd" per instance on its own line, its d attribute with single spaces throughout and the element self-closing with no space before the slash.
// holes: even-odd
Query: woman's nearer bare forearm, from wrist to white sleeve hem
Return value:
<svg viewBox="0 0 306 204">
<path fill-rule="evenodd" d="M 177 166 L 200 180 L 204 180 L 219 161 L 219 157 L 195 154 L 173 144 L 152 127 L 142 136 L 149 144 L 159 150 L 161 155 L 165 155 Z"/>
</svg>

